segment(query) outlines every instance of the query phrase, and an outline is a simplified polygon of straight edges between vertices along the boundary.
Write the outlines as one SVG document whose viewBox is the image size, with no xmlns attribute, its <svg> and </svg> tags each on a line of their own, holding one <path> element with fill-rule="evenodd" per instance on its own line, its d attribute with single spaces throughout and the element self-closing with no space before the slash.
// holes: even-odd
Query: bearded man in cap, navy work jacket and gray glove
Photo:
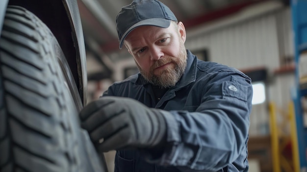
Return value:
<svg viewBox="0 0 307 172">
<path fill-rule="evenodd" d="M 140 73 L 80 112 L 97 149 L 117 150 L 115 172 L 247 172 L 251 79 L 186 50 L 158 0 L 133 0 L 116 22 Z"/>
</svg>

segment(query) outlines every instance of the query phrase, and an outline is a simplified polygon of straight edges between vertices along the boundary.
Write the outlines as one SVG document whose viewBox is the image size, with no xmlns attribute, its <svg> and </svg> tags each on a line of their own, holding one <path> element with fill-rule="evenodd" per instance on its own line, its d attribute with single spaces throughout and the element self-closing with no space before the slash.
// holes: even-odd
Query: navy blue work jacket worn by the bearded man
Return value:
<svg viewBox="0 0 307 172">
<path fill-rule="evenodd" d="M 167 146 L 162 155 L 153 159 L 146 151 L 118 150 L 115 172 L 248 171 L 251 79 L 225 65 L 201 61 L 189 50 L 187 56 L 185 73 L 157 103 L 141 74 L 115 82 L 103 93 L 172 114 L 166 117 Z"/>
</svg>

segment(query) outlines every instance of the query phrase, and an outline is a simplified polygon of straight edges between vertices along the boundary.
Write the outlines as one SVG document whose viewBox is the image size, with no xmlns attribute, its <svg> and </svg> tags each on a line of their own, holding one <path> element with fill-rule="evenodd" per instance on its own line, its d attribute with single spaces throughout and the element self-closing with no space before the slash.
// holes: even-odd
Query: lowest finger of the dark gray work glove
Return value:
<svg viewBox="0 0 307 172">
<path fill-rule="evenodd" d="M 98 149 L 100 151 L 107 152 L 133 144 L 133 142 L 136 142 L 136 140 L 133 138 L 133 136 L 130 136 L 128 130 L 128 127 L 122 128 L 116 134 L 113 134 L 111 137 L 107 138 L 100 145 L 98 145 Z"/>
</svg>

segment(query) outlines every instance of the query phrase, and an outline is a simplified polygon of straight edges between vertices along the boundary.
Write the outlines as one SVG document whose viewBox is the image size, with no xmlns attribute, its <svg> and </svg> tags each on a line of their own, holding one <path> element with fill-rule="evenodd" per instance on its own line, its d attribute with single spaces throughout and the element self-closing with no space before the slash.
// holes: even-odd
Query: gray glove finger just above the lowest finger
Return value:
<svg viewBox="0 0 307 172">
<path fill-rule="evenodd" d="M 108 121 L 90 133 L 91 140 L 96 143 L 102 138 L 111 137 L 117 131 L 128 126 L 128 116 L 125 113 L 114 115 Z"/>
</svg>

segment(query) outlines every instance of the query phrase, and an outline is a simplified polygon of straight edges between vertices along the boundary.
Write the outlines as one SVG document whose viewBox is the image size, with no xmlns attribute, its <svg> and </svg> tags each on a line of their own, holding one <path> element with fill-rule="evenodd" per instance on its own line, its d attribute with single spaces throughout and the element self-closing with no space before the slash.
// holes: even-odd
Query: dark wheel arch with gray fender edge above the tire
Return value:
<svg viewBox="0 0 307 172">
<path fill-rule="evenodd" d="M 8 5 L 26 8 L 50 28 L 61 46 L 78 88 L 78 94 L 85 105 L 87 101 L 86 56 L 77 0 L 3 0 L 1 4 L 5 5 L 5 9 L 6 2 Z M 4 14 L 5 10 L 0 11 L 1 26 Z"/>
</svg>

